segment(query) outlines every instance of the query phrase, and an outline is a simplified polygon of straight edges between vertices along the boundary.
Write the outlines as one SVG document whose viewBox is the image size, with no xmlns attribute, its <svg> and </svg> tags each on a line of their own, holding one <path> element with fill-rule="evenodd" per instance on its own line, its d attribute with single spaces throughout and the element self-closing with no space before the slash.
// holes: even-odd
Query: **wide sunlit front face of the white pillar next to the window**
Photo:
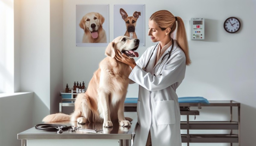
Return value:
<svg viewBox="0 0 256 146">
<path fill-rule="evenodd" d="M 50 113 L 50 1 L 20 0 L 20 90 L 34 92 L 33 124 Z"/>
</svg>

